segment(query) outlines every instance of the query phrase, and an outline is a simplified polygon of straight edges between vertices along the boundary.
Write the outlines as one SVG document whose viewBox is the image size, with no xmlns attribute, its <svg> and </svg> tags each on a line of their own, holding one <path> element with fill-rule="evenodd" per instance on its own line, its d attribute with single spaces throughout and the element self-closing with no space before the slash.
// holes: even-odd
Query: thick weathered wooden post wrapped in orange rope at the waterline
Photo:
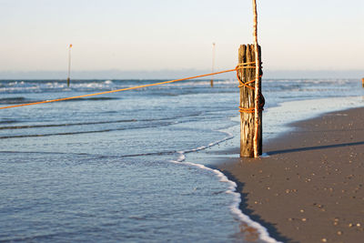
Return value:
<svg viewBox="0 0 364 243">
<path fill-rule="evenodd" d="M 258 46 L 258 58 L 260 59 L 260 46 Z M 255 80 L 256 80 L 256 56 L 254 45 L 241 45 L 238 50 L 238 64 L 244 68 L 238 70 L 240 84 L 240 157 L 255 157 Z M 259 71 L 259 79 L 262 75 L 261 68 Z M 259 97 L 259 104 L 264 104 L 262 96 Z M 262 106 L 259 105 L 258 117 L 262 117 Z M 262 154 L 262 122 L 260 120 L 258 127 L 258 155 Z"/>
</svg>

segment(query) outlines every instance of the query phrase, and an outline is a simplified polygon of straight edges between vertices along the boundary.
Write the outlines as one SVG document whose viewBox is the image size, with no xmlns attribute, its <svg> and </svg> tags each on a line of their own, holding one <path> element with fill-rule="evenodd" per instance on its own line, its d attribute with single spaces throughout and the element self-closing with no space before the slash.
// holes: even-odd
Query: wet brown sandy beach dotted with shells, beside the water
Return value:
<svg viewBox="0 0 364 243">
<path fill-rule="evenodd" d="M 242 211 L 273 238 L 363 242 L 363 121 L 364 108 L 355 108 L 298 122 L 264 146 L 268 157 L 215 165 L 238 183 Z"/>
</svg>

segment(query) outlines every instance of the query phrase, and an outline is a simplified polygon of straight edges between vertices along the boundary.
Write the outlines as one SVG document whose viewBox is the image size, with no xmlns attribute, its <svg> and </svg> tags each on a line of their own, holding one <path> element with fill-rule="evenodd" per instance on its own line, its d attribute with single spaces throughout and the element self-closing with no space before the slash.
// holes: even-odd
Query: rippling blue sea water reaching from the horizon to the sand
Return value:
<svg viewBox="0 0 364 243">
<path fill-rule="evenodd" d="M 0 80 L 0 106 L 156 82 Z M 0 110 L 0 241 L 275 242 L 238 209 L 234 182 L 193 161 L 237 140 L 237 82 Z M 363 106 L 359 79 L 263 80 L 262 89 L 267 140 L 289 121 Z"/>
</svg>

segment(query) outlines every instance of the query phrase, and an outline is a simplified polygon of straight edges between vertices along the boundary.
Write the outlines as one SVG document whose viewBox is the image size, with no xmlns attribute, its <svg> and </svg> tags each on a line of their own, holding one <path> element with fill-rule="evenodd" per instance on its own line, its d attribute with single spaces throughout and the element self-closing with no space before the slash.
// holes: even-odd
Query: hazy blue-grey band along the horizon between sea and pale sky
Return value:
<svg viewBox="0 0 364 243">
<path fill-rule="evenodd" d="M 364 69 L 267 69 L 263 70 L 263 78 L 359 78 L 364 77 Z M 159 69 L 159 70 L 74 70 L 71 79 L 169 79 L 176 76 L 197 76 L 210 73 L 207 69 Z M 32 71 L 0 71 L 1 80 L 35 80 L 35 79 L 66 79 L 66 70 L 32 70 Z M 221 74 L 216 78 L 234 78 L 236 73 Z"/>
</svg>

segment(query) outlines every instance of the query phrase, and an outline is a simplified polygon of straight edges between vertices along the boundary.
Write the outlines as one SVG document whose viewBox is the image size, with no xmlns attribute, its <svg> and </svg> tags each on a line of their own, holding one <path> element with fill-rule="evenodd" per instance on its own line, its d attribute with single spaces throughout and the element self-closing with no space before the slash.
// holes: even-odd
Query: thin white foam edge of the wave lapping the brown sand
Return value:
<svg viewBox="0 0 364 243">
<path fill-rule="evenodd" d="M 238 218 L 238 220 L 248 224 L 249 227 L 256 228 L 258 230 L 260 239 L 262 239 L 262 240 L 264 240 L 264 241 L 266 241 L 268 243 L 273 243 L 273 242 L 278 243 L 280 241 L 277 241 L 275 238 L 271 238 L 269 236 L 267 228 L 264 228 L 258 222 L 253 221 L 247 215 L 243 214 L 243 212 L 240 210 L 239 206 L 240 206 L 240 203 L 241 203 L 241 196 L 240 196 L 240 193 L 237 192 L 237 187 L 238 187 L 237 183 L 235 183 L 232 180 L 229 180 L 227 178 L 227 176 L 225 176 L 221 171 L 219 171 L 217 169 L 206 167 L 206 166 L 201 165 L 201 164 L 195 164 L 195 163 L 191 163 L 191 162 L 184 162 L 185 159 L 186 159 L 186 156 L 185 156 L 186 153 L 195 152 L 195 151 L 198 151 L 198 150 L 205 149 L 207 147 L 212 147 L 212 146 L 215 146 L 215 145 L 217 145 L 217 144 L 219 144 L 219 143 L 221 143 L 223 141 L 226 141 L 226 140 L 231 139 L 231 138 L 234 137 L 232 134 L 230 134 L 228 132 L 225 132 L 225 133 L 228 135 L 228 137 L 226 137 L 226 138 L 224 138 L 222 140 L 219 140 L 219 141 L 217 141 L 215 143 L 210 143 L 205 147 L 197 147 L 195 149 L 191 149 L 191 150 L 187 150 L 187 151 L 177 151 L 177 153 L 179 154 L 179 157 L 177 158 L 177 160 L 171 160 L 170 162 L 176 163 L 176 164 L 192 166 L 192 167 L 199 167 L 201 169 L 206 169 L 208 171 L 214 172 L 217 175 L 217 177 L 219 178 L 220 182 L 228 184 L 228 189 L 227 189 L 226 193 L 231 194 L 231 195 L 234 196 L 233 203 L 230 205 L 230 211 L 232 212 L 232 214 L 235 215 Z"/>
</svg>

